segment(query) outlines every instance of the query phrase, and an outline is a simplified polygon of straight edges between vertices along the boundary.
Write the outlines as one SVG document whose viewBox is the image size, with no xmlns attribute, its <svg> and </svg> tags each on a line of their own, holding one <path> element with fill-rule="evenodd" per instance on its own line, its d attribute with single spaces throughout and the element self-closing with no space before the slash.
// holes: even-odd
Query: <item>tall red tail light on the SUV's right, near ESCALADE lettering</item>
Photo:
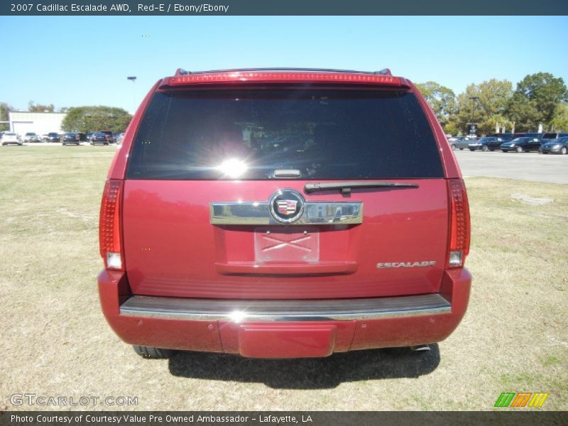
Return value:
<svg viewBox="0 0 568 426">
<path fill-rule="evenodd" d="M 447 267 L 461 268 L 469 253 L 469 204 L 466 186 L 461 179 L 450 179 L 449 192 L 449 244 Z"/>
</svg>

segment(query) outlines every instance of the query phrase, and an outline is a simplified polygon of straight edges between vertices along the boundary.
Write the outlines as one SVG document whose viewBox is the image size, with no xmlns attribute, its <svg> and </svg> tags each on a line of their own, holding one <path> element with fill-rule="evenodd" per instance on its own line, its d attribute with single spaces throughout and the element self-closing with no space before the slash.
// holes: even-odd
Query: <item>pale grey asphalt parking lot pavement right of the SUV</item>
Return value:
<svg viewBox="0 0 568 426">
<path fill-rule="evenodd" d="M 454 153 L 464 177 L 487 176 L 568 185 L 568 155 L 468 150 Z"/>
</svg>

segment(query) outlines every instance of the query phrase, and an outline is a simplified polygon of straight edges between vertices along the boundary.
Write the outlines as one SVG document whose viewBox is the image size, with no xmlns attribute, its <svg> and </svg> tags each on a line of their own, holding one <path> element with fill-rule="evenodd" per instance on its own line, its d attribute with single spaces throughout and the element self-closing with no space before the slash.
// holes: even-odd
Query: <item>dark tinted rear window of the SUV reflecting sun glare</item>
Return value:
<svg viewBox="0 0 568 426">
<path fill-rule="evenodd" d="M 408 92 L 184 90 L 153 95 L 130 179 L 442 178 L 437 143 Z"/>
</svg>

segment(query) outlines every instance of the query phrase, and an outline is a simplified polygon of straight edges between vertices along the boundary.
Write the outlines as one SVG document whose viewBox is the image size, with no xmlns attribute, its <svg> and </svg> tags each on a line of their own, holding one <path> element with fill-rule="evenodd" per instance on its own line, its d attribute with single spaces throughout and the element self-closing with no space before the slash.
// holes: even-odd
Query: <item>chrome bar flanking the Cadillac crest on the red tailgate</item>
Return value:
<svg viewBox="0 0 568 426">
<path fill-rule="evenodd" d="M 272 217 L 266 201 L 212 202 L 209 214 L 212 225 L 285 225 Z M 363 202 L 306 202 L 302 216 L 288 225 L 361 223 Z"/>
</svg>

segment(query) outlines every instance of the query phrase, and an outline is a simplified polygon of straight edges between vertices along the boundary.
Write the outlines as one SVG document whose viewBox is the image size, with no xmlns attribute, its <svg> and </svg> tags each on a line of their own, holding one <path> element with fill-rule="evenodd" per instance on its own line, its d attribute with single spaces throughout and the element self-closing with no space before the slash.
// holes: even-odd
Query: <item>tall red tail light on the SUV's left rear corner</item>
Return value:
<svg viewBox="0 0 568 426">
<path fill-rule="evenodd" d="M 122 187 L 121 180 L 107 180 L 99 217 L 99 246 L 104 267 L 117 271 L 124 271 L 120 220 Z"/>
</svg>

